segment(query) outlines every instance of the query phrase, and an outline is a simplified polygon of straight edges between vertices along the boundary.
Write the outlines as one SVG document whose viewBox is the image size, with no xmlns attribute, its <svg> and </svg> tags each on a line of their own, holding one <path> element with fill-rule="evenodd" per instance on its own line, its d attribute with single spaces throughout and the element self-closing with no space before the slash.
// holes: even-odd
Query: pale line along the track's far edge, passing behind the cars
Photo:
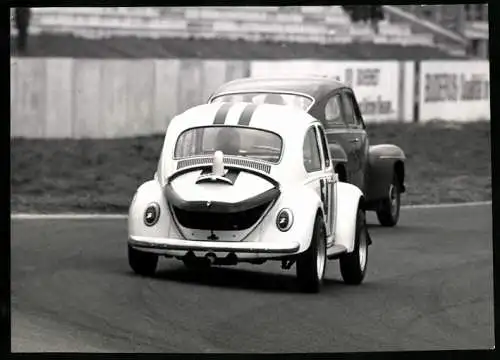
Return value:
<svg viewBox="0 0 500 360">
<path fill-rule="evenodd" d="M 486 206 L 491 205 L 491 201 L 477 201 L 468 203 L 452 203 L 452 204 L 428 204 L 428 205 L 405 205 L 402 209 L 446 209 L 455 207 L 471 207 L 471 206 Z M 124 220 L 128 214 L 26 214 L 16 213 L 10 215 L 14 220 Z"/>
</svg>

